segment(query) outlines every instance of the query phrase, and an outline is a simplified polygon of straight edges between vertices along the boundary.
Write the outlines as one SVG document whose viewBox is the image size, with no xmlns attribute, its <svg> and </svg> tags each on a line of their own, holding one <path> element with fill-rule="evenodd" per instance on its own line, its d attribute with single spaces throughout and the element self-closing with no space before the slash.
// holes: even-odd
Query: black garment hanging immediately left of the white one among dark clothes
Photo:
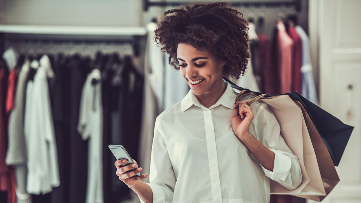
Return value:
<svg viewBox="0 0 361 203">
<path fill-rule="evenodd" d="M 66 118 L 69 120 L 70 139 L 70 178 L 69 178 L 69 202 L 85 202 L 87 194 L 88 170 L 88 140 L 84 141 L 77 130 L 79 122 L 79 109 L 84 81 L 89 73 L 89 61 L 82 60 L 79 55 L 67 57 L 66 59 L 66 83 L 69 87 L 64 91 L 67 110 Z M 68 89 L 69 88 L 69 89 Z"/>
</svg>

